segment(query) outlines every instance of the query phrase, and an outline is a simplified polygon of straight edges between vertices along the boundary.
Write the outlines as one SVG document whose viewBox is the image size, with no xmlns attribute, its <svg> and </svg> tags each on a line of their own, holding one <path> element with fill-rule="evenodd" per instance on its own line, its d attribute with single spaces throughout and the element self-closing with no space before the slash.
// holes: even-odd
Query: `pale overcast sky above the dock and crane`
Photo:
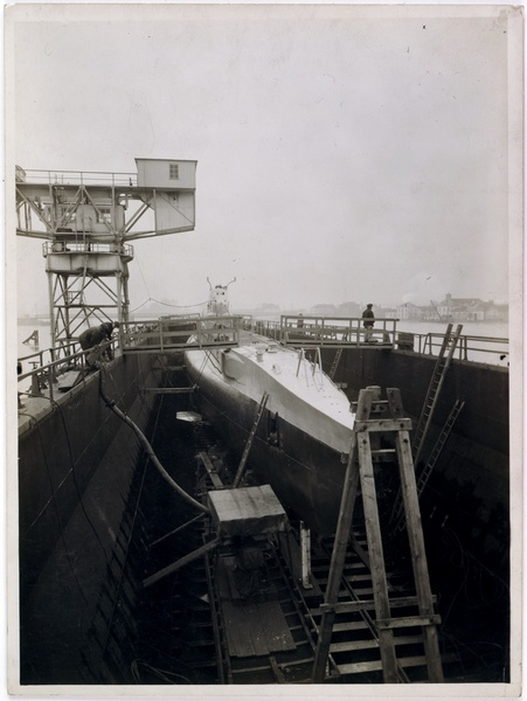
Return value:
<svg viewBox="0 0 527 701">
<path fill-rule="evenodd" d="M 15 9 L 15 163 L 198 161 L 196 229 L 135 244 L 131 308 L 207 276 L 236 308 L 507 301 L 504 10 Z M 17 243 L 20 311 L 45 311 L 41 242 Z"/>
</svg>

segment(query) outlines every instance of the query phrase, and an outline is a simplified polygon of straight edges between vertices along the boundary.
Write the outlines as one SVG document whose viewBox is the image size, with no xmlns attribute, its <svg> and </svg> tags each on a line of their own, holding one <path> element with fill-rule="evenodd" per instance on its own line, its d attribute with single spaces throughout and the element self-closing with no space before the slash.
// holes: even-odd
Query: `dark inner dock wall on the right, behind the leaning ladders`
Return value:
<svg viewBox="0 0 527 701">
<path fill-rule="evenodd" d="M 323 353 L 331 367 L 334 351 Z M 404 411 L 415 428 L 436 358 L 413 351 L 345 349 L 334 380 L 357 400 L 359 390 L 378 385 L 401 390 Z M 438 397 L 423 449 L 430 455 L 456 399 L 465 407 L 423 490 L 423 522 L 434 538 L 446 526 L 486 566 L 508 575 L 509 557 L 509 372 L 507 368 L 453 360 Z"/>
</svg>

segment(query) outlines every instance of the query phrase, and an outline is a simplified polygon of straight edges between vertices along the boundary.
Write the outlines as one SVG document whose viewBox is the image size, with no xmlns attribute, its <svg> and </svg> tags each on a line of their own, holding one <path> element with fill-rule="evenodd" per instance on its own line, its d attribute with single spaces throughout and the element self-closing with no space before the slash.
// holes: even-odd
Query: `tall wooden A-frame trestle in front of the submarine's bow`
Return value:
<svg viewBox="0 0 527 701">
<path fill-rule="evenodd" d="M 378 645 L 381 652 L 383 680 L 385 683 L 405 681 L 404 674 L 401 673 L 401 665 L 397 661 L 394 630 L 396 628 L 419 626 L 423 633 L 428 678 L 432 682 L 440 683 L 443 681 L 442 662 L 437 639 L 437 625 L 440 622 L 440 618 L 434 614 L 434 601 L 430 589 L 423 529 L 420 522 L 418 494 L 409 438 L 411 420 L 404 418 L 402 414 L 399 390 L 388 388 L 386 393 L 388 402 L 381 402 L 381 390 L 378 387 L 369 387 L 361 390 L 359 395 L 348 467 L 343 485 L 341 508 L 331 554 L 325 600 L 324 604 L 320 606 L 322 620 L 318 631 L 312 675 L 315 683 L 324 681 L 331 634 L 337 611 L 347 610 L 346 606 L 349 607 L 350 611 L 357 611 L 361 606 L 360 601 L 338 601 L 338 592 L 345 564 L 346 549 L 351 536 L 353 510 L 359 482 L 367 534 L 369 569 L 374 589 L 374 625 L 377 630 Z M 372 408 L 376 403 L 388 404 L 390 416 L 380 419 L 371 418 Z M 385 570 L 381 522 L 374 479 L 373 454 L 375 450 L 371 448 L 371 437 L 378 437 L 381 433 L 395 435 L 394 457 L 399 465 L 404 514 L 408 526 L 413 566 L 413 579 L 416 587 L 416 604 L 418 606 L 418 615 L 398 618 L 391 613 L 391 608 L 397 607 L 397 599 L 390 600 L 388 595 L 388 580 Z M 369 605 L 371 608 L 371 601 L 364 601 L 362 605 L 363 608 L 367 608 Z"/>
</svg>

